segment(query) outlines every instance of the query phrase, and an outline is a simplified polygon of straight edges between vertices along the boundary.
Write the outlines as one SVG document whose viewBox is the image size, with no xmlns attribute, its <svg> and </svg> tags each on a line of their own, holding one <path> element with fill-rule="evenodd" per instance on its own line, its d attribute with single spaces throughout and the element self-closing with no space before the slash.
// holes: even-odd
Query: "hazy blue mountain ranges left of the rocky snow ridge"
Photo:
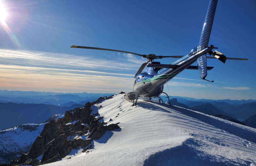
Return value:
<svg viewBox="0 0 256 166">
<path fill-rule="evenodd" d="M 0 90 L 0 130 L 21 124 L 44 123 L 54 114 L 64 114 L 110 95 L 113 94 Z"/>
</svg>

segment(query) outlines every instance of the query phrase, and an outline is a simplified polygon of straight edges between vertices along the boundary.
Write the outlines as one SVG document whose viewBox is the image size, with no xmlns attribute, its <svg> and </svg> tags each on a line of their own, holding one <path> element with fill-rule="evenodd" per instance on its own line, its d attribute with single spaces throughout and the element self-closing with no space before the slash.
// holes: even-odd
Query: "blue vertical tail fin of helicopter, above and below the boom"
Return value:
<svg viewBox="0 0 256 166">
<path fill-rule="evenodd" d="M 217 2 L 218 0 L 210 0 L 205 21 L 204 21 L 200 42 L 199 42 L 199 51 L 204 49 L 204 46 L 206 47 L 208 46 L 211 31 L 212 31 L 212 23 L 213 23 L 213 19 L 214 19 L 216 7 L 217 7 Z M 203 55 L 197 58 L 196 62 L 197 62 L 200 78 L 205 79 L 205 77 L 207 76 L 206 55 Z M 210 81 L 210 82 L 213 82 L 213 81 Z"/>
</svg>

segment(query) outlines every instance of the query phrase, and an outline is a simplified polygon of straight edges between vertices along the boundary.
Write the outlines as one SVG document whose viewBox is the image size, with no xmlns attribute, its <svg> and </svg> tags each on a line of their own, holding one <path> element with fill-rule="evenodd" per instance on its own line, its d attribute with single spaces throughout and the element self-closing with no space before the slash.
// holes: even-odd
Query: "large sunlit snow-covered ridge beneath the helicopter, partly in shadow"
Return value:
<svg viewBox="0 0 256 166">
<path fill-rule="evenodd" d="M 92 106 L 121 129 L 46 165 L 256 165 L 254 128 L 142 99 L 131 105 L 119 94 Z"/>
</svg>

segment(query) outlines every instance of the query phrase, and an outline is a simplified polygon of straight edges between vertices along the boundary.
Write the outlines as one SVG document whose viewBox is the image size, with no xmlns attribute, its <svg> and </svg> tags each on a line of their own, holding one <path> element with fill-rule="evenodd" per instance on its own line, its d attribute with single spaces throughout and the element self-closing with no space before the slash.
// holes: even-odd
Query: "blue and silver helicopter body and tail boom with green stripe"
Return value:
<svg viewBox="0 0 256 166">
<path fill-rule="evenodd" d="M 141 97 L 157 97 L 164 89 L 164 84 L 196 62 L 198 57 L 211 51 L 213 47 L 204 48 L 198 51 L 198 47 L 192 49 L 187 55 L 174 61 L 171 64 L 178 65 L 176 68 L 153 68 L 146 67 L 144 72 L 135 78 L 133 91 L 140 93 Z M 159 62 L 151 62 L 160 64 Z"/>
</svg>

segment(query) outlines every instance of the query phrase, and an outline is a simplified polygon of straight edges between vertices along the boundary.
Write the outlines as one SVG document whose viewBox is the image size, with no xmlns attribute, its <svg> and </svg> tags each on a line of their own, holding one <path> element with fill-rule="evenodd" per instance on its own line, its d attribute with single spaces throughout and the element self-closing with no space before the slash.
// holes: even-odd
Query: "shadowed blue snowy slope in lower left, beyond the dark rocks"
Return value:
<svg viewBox="0 0 256 166">
<path fill-rule="evenodd" d="M 8 163 L 27 153 L 36 137 L 44 129 L 44 124 L 22 124 L 0 131 L 0 163 Z"/>
</svg>

